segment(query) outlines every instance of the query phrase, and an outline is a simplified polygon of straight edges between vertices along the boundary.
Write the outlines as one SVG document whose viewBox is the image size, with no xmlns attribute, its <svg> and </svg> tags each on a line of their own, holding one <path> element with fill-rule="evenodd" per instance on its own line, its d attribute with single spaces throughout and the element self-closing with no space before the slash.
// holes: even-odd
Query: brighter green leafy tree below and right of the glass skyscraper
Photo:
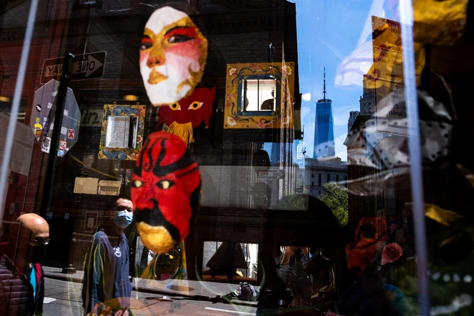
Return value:
<svg viewBox="0 0 474 316">
<path fill-rule="evenodd" d="M 319 199 L 336 216 L 341 226 L 346 226 L 349 221 L 349 196 L 347 188 L 340 187 L 336 183 L 327 183 L 324 185 L 326 193 Z"/>
</svg>

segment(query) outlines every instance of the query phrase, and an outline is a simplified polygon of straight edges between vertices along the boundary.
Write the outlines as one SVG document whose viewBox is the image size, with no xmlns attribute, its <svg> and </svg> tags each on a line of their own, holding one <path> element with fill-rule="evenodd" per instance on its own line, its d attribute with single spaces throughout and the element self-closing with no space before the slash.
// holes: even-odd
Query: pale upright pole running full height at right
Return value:
<svg viewBox="0 0 474 316">
<path fill-rule="evenodd" d="M 421 169 L 421 143 L 418 118 L 418 99 L 413 52 L 413 7 L 411 0 L 400 0 L 401 40 L 403 51 L 403 74 L 405 80 L 406 117 L 409 131 L 411 193 L 413 198 L 413 226 L 417 255 L 418 304 L 420 316 L 430 315 L 430 283 L 428 278 L 428 248 L 425 228 L 425 201 L 423 196 L 423 174 Z"/>
</svg>

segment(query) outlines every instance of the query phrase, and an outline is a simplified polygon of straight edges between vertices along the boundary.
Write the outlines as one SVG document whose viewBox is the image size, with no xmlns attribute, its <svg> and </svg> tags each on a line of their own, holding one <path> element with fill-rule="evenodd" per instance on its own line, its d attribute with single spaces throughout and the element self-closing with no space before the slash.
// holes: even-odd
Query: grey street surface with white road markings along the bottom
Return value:
<svg viewBox="0 0 474 316">
<path fill-rule="evenodd" d="M 207 282 L 206 282 L 207 283 Z M 82 283 L 44 278 L 44 316 L 82 316 Z M 255 315 L 256 307 L 216 302 L 203 296 L 183 297 L 132 291 L 130 309 L 133 315 Z M 220 301 L 220 300 L 216 300 Z"/>
</svg>

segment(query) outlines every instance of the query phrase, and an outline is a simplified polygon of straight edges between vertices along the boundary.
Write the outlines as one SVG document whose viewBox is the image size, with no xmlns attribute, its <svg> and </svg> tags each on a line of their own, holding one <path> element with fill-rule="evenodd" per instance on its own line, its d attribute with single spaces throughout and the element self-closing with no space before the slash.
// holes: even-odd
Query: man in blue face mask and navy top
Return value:
<svg viewBox="0 0 474 316">
<path fill-rule="evenodd" d="M 106 213 L 108 225 L 92 236 L 84 259 L 84 315 L 101 315 L 106 309 L 112 315 L 118 311 L 129 314 L 132 286 L 128 240 L 123 231 L 133 220 L 132 209 L 129 199 L 119 198 L 114 210 Z"/>
</svg>

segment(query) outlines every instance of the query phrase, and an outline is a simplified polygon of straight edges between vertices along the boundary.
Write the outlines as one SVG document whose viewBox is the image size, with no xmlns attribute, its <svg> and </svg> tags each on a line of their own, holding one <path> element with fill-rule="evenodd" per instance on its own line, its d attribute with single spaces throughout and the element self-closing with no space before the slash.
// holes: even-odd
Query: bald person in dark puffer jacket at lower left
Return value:
<svg viewBox="0 0 474 316">
<path fill-rule="evenodd" d="M 49 225 L 39 215 L 28 213 L 16 219 L 20 223 L 17 254 L 5 251 L 14 244 L 2 243 L 0 258 L 0 315 L 33 316 L 43 312 L 44 273 L 41 264 L 49 242 Z"/>
</svg>

